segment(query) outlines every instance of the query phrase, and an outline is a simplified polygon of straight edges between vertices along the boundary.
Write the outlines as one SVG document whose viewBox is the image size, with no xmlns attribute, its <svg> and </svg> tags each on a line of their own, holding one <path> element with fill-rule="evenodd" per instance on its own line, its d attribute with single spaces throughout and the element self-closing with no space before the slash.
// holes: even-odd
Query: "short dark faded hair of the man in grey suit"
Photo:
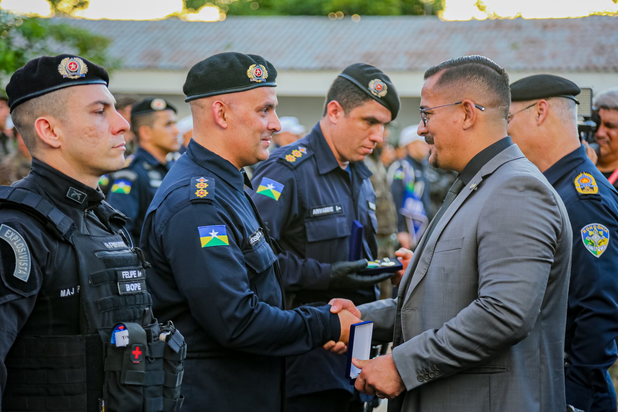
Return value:
<svg viewBox="0 0 618 412">
<path fill-rule="evenodd" d="M 475 90 L 487 96 L 488 109 L 502 108 L 501 116 L 504 119 L 509 116 L 509 75 L 493 60 L 478 55 L 457 57 L 427 69 L 425 80 L 436 74 L 440 74 L 436 88 L 455 86 Z"/>
</svg>

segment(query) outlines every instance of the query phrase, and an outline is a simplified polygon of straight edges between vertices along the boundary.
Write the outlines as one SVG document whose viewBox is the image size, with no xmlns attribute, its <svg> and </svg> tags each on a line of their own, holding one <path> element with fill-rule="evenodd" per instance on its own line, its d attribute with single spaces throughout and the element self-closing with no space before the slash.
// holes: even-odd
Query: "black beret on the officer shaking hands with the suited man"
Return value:
<svg viewBox="0 0 618 412">
<path fill-rule="evenodd" d="M 189 70 L 182 91 L 187 95 L 185 101 L 192 101 L 261 86 L 274 87 L 276 78 L 277 70 L 261 56 L 219 53 Z"/>
</svg>

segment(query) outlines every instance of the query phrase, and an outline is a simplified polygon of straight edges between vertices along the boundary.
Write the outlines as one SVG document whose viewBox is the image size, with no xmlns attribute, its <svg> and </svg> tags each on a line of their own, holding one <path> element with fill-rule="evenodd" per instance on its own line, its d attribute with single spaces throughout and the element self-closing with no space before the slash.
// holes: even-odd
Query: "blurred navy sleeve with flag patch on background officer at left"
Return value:
<svg viewBox="0 0 618 412">
<path fill-rule="evenodd" d="M 132 172 L 132 170 L 121 170 L 121 172 L 127 173 Z M 119 174 L 121 172 L 118 172 Z M 132 175 L 122 174 L 122 177 L 114 177 L 114 180 L 111 182 L 111 186 L 109 189 L 109 194 L 107 201 L 111 204 L 114 209 L 118 209 L 125 216 L 129 217 L 130 221 L 128 221 L 124 227 L 127 229 L 131 236 L 133 237 L 133 243 L 135 243 L 135 233 L 137 230 L 137 234 L 139 235 L 139 231 L 142 229 L 141 227 L 134 227 L 135 222 L 137 221 L 137 215 L 140 212 L 140 193 L 143 190 L 142 183 L 140 179 L 137 179 L 137 175 L 132 179 Z"/>
</svg>

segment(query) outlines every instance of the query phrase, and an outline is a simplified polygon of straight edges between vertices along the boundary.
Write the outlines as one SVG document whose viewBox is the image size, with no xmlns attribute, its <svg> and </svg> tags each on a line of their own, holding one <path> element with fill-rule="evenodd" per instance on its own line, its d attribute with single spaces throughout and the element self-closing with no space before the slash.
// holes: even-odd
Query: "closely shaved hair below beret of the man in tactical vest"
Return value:
<svg viewBox="0 0 618 412">
<path fill-rule="evenodd" d="M 36 119 L 41 116 L 52 116 L 63 123 L 69 120 L 66 110 L 69 97 L 67 89 L 68 87 L 51 91 L 25 101 L 13 109 L 11 119 L 17 132 L 22 135 L 23 143 L 31 156 L 35 154 L 36 142 L 39 139 L 35 131 Z"/>
</svg>

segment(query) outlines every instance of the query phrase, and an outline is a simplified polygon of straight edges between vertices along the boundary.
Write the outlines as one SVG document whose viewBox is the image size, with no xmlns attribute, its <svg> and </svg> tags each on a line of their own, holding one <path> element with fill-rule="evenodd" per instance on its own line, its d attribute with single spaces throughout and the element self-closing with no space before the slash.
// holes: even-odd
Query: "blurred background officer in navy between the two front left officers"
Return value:
<svg viewBox="0 0 618 412">
<path fill-rule="evenodd" d="M 180 148 L 176 107 L 161 98 L 138 101 L 131 109 L 131 128 L 140 145 L 129 165 L 112 174 L 107 200 L 129 217 L 125 229 L 137 246 L 146 210 L 170 167 L 166 156 Z"/>
</svg>

